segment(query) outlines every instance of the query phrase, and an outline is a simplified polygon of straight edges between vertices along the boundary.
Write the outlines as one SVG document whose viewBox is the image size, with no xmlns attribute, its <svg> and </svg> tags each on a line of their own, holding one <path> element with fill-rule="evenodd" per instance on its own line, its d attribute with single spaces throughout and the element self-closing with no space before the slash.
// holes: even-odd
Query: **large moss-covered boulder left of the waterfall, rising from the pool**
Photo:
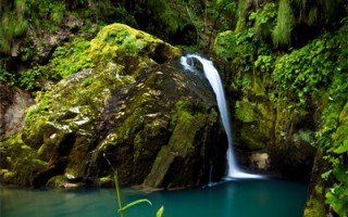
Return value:
<svg viewBox="0 0 348 217">
<path fill-rule="evenodd" d="M 1 182 L 111 186 L 116 169 L 123 186 L 185 188 L 223 176 L 214 93 L 182 71 L 178 49 L 113 24 L 86 53 L 90 67 L 47 91 L 1 142 Z"/>
</svg>

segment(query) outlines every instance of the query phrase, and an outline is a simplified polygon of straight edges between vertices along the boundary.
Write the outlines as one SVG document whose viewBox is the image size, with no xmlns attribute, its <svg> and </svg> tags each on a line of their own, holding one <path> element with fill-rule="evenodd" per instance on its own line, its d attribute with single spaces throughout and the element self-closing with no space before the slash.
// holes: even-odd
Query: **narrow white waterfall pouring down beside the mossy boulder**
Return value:
<svg viewBox="0 0 348 217">
<path fill-rule="evenodd" d="M 202 64 L 204 76 L 209 80 L 216 97 L 221 120 L 225 128 L 225 131 L 227 135 L 227 141 L 228 141 L 228 149 L 226 154 L 227 162 L 228 162 L 227 177 L 228 178 L 259 178 L 258 175 L 243 173 L 237 166 L 236 159 L 234 157 L 234 152 L 233 152 L 233 137 L 232 137 L 232 128 L 229 125 L 227 104 L 226 104 L 225 93 L 224 93 L 224 89 L 222 86 L 219 72 L 216 71 L 216 68 L 214 67 L 211 61 L 206 60 L 196 54 L 182 56 L 181 64 L 184 66 L 185 69 L 197 72 L 195 66 L 188 63 L 188 60 L 190 59 L 197 59 Z"/>
</svg>

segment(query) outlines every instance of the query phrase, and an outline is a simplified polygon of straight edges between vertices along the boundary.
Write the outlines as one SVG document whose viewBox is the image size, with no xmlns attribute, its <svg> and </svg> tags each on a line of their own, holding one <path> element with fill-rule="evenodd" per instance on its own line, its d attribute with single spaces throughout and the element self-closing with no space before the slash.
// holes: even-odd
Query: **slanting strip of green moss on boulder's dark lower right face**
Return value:
<svg viewBox="0 0 348 217">
<path fill-rule="evenodd" d="M 172 164 L 176 159 L 181 161 L 191 156 L 195 150 L 199 149 L 197 137 L 202 137 L 200 135 L 202 128 L 215 123 L 217 117 L 214 110 L 207 113 L 202 107 L 195 107 L 191 101 L 177 101 L 172 111 L 173 132 L 169 143 L 163 145 L 158 153 L 145 184 L 154 188 L 162 187 L 164 176 L 171 169 Z"/>
</svg>

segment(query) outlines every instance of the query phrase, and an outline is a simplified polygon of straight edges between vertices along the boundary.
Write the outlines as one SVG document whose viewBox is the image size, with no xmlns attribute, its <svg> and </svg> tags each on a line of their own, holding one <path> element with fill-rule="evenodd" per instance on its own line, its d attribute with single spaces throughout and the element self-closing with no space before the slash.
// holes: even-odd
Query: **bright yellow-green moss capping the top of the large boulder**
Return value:
<svg viewBox="0 0 348 217">
<path fill-rule="evenodd" d="M 123 61 L 126 56 L 130 56 L 140 60 L 138 62 L 145 61 L 148 66 L 153 66 L 153 62 L 146 60 L 146 55 L 150 58 L 163 55 L 161 59 L 167 60 L 181 55 L 179 49 L 124 24 L 105 26 L 90 44 L 91 59 L 99 64 L 108 62 L 126 64 Z M 161 50 L 159 50 L 160 47 Z M 127 64 L 129 64 L 129 59 Z"/>
</svg>

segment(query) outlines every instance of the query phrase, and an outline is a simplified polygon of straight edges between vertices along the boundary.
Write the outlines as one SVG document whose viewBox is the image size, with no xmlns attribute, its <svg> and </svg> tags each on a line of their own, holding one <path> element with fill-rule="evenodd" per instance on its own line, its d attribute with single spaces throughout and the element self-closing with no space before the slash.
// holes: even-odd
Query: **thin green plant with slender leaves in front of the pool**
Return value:
<svg viewBox="0 0 348 217">
<path fill-rule="evenodd" d="M 123 213 L 134 205 L 140 204 L 140 203 L 148 203 L 148 204 L 152 205 L 152 203 L 148 199 L 139 199 L 139 200 L 133 201 L 133 202 L 128 203 L 127 205 L 123 206 L 123 202 L 122 202 L 122 197 L 121 197 L 121 190 L 120 190 L 120 184 L 119 184 L 117 170 L 115 170 L 113 168 L 112 164 L 110 163 L 110 161 L 108 159 L 105 154 L 103 154 L 103 157 L 107 159 L 108 164 L 111 166 L 113 174 L 114 174 L 113 179 L 115 182 L 117 202 L 119 202 L 117 213 L 120 214 L 121 217 L 124 217 Z M 164 207 L 161 206 L 161 208 L 159 208 L 159 210 L 157 212 L 156 217 L 162 217 L 163 210 L 164 210 Z"/>
</svg>

